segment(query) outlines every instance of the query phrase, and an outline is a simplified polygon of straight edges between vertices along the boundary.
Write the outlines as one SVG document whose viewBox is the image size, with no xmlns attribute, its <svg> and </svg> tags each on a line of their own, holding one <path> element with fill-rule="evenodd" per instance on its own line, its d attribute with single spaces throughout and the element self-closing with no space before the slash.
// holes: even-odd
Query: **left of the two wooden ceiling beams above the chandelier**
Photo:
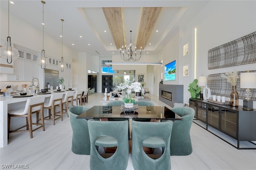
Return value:
<svg viewBox="0 0 256 170">
<path fill-rule="evenodd" d="M 102 8 L 102 10 L 107 20 L 108 27 L 112 34 L 114 43 L 116 45 L 116 49 L 121 49 L 123 44 L 123 38 L 124 38 L 121 8 L 111 7 L 111 8 Z M 125 40 L 124 40 L 124 44 L 125 44 Z"/>
</svg>

